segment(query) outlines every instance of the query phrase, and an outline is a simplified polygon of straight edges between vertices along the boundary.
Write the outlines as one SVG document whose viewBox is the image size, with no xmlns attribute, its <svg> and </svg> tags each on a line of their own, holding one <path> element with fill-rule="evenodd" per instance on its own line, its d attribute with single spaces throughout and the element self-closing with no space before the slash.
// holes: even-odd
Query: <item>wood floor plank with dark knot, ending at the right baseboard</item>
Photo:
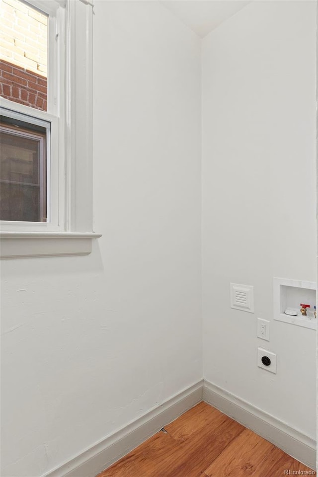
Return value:
<svg viewBox="0 0 318 477">
<path fill-rule="evenodd" d="M 274 449 L 273 444 L 244 429 L 204 472 L 208 477 L 251 476 Z"/>
</svg>

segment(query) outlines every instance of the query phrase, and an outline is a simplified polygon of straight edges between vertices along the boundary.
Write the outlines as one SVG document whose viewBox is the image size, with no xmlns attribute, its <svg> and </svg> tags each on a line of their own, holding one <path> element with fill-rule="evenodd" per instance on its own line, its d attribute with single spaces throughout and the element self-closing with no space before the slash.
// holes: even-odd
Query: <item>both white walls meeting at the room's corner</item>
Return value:
<svg viewBox="0 0 318 477">
<path fill-rule="evenodd" d="M 155 1 L 94 7 L 86 257 L 2 262 L 3 477 L 35 477 L 202 377 L 200 40 Z M 315 332 L 272 278 L 315 280 L 315 4 L 255 1 L 203 42 L 204 376 L 315 437 Z M 286 230 L 292 227 L 292 233 Z M 229 283 L 255 286 L 255 314 Z M 256 367 L 271 320 L 277 375 Z"/>
</svg>

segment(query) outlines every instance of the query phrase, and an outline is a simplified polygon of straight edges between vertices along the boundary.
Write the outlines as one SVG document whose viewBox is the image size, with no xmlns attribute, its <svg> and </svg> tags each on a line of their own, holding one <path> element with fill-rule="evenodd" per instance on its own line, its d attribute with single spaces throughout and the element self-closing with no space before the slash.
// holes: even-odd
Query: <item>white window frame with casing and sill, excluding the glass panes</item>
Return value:
<svg viewBox="0 0 318 477">
<path fill-rule="evenodd" d="M 49 15 L 49 113 L 3 98 L 0 106 L 51 123 L 50 222 L 0 221 L 0 257 L 87 254 L 100 237 L 92 228 L 93 5 L 25 1 Z"/>
</svg>

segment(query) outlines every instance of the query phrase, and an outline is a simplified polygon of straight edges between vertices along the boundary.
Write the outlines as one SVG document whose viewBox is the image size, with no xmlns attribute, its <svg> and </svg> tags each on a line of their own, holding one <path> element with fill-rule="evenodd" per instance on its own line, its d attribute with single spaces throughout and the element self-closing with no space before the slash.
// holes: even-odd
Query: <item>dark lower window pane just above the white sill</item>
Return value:
<svg viewBox="0 0 318 477">
<path fill-rule="evenodd" d="M 0 220 L 46 222 L 46 128 L 0 125 Z"/>
</svg>

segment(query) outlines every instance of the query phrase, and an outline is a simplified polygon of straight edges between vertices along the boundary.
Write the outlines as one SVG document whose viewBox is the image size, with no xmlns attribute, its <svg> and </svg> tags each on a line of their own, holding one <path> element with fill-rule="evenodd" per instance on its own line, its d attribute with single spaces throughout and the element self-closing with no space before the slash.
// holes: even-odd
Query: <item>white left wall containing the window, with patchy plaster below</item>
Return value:
<svg viewBox="0 0 318 477">
<path fill-rule="evenodd" d="M 158 2 L 94 7 L 85 257 L 2 262 L 2 476 L 35 477 L 202 378 L 201 51 Z"/>
</svg>

